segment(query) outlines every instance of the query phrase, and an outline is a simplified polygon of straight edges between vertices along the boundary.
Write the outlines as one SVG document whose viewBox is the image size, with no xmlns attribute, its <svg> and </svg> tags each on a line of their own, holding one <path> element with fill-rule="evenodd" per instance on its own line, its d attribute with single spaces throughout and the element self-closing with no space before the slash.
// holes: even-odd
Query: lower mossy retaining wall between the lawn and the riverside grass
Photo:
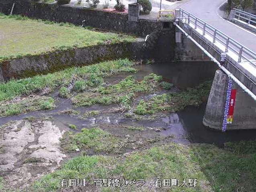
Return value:
<svg viewBox="0 0 256 192">
<path fill-rule="evenodd" d="M 7 60 L 0 63 L 0 80 L 23 78 L 61 70 L 68 66 L 89 65 L 118 58 L 144 59 L 147 54 L 144 42 L 89 46 L 39 56 Z"/>
</svg>

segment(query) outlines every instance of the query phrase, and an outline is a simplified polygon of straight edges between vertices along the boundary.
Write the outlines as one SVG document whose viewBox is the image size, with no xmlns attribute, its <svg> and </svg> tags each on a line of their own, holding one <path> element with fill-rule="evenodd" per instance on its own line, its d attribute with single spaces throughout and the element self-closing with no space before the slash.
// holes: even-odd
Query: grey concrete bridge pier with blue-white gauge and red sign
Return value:
<svg viewBox="0 0 256 192">
<path fill-rule="evenodd" d="M 223 71 L 216 70 L 203 117 L 203 124 L 209 128 L 222 130 L 228 79 Z M 232 123 L 227 124 L 227 130 L 256 129 L 256 102 L 236 83 L 232 82 L 231 89 L 232 104 L 231 99 L 228 104 L 232 116 L 228 117 L 232 117 Z M 232 105 L 234 105 L 233 113 Z"/>
</svg>

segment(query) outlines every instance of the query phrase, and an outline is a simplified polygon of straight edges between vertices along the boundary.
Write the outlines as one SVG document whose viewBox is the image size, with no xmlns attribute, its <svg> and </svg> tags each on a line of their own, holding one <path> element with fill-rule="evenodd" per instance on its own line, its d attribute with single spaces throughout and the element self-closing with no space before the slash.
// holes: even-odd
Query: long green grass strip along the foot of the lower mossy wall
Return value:
<svg viewBox="0 0 256 192">
<path fill-rule="evenodd" d="M 0 101 L 43 90 L 68 86 L 73 81 L 86 80 L 88 86 L 98 85 L 98 79 L 122 72 L 136 72 L 128 59 L 100 62 L 90 66 L 72 67 L 46 75 L 10 80 L 0 84 Z"/>
</svg>

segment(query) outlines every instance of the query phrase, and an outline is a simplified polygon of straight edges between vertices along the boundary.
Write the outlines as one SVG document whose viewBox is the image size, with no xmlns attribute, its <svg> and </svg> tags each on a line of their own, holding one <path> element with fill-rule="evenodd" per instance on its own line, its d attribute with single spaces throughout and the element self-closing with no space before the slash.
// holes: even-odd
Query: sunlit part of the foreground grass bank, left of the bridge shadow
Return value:
<svg viewBox="0 0 256 192">
<path fill-rule="evenodd" d="M 111 156 L 79 156 L 64 164 L 60 170 L 50 173 L 33 185 L 42 192 L 55 191 L 60 188 L 62 178 L 86 178 L 88 187 L 94 191 L 94 178 L 124 178 L 125 180 L 145 179 L 145 186 L 109 188 L 109 191 L 129 190 L 134 192 L 156 190 L 154 179 L 157 178 L 197 178 L 195 188 L 176 187 L 176 192 L 210 192 L 211 186 L 205 180 L 200 166 L 195 164 L 188 148 L 180 144 L 168 144 L 149 150 L 127 155 L 125 159 Z M 148 185 L 151 183 L 152 186 Z M 204 184 L 208 184 L 205 186 Z M 105 191 L 104 188 L 98 188 Z M 160 190 L 160 188 L 158 188 Z M 162 189 L 163 191 L 164 189 Z M 167 190 L 167 188 L 165 189 Z"/>
</svg>

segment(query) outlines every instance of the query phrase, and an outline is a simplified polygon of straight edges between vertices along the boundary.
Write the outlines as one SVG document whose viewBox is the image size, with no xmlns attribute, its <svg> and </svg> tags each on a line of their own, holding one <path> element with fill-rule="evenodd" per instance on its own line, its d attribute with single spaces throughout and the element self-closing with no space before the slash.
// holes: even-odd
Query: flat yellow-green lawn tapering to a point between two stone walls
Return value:
<svg viewBox="0 0 256 192">
<path fill-rule="evenodd" d="M 96 32 L 72 24 L 0 14 L 0 60 L 134 39 L 132 36 Z"/>
</svg>

